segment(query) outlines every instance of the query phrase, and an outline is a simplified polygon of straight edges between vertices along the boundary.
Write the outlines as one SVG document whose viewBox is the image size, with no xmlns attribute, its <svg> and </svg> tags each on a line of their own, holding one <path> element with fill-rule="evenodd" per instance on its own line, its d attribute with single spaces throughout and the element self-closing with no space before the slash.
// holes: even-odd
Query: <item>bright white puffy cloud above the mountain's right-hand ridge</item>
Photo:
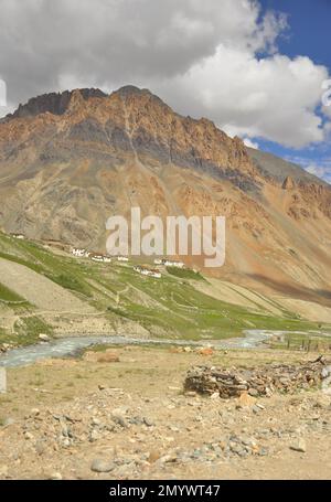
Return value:
<svg viewBox="0 0 331 502">
<path fill-rule="evenodd" d="M 324 139 L 316 108 L 327 75 L 308 57 L 276 54 L 258 60 L 247 51 L 220 46 L 202 64 L 168 82 L 163 93 L 181 109 L 191 99 L 195 115 L 206 114 L 231 135 L 299 148 Z"/>
</svg>

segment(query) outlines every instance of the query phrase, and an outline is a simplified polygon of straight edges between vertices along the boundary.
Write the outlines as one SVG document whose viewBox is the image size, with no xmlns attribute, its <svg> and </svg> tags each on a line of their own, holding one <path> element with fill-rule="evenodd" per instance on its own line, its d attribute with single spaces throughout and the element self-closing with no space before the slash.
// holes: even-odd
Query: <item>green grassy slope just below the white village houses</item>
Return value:
<svg viewBox="0 0 331 502">
<path fill-rule="evenodd" d="M 173 270 L 164 270 L 162 279 L 142 277 L 130 264 L 76 259 L 4 234 L 0 234 L 0 257 L 43 274 L 105 312 L 109 319 L 137 321 L 153 335 L 197 340 L 236 337 L 244 329 L 253 328 L 318 329 L 317 323 L 300 320 L 290 312 L 273 317 L 258 309 L 250 311 L 206 296 L 194 288 L 194 282 L 207 279 L 194 273 L 173 275 Z M 9 298 L 11 293 L 0 289 L 0 298 L 1 295 Z"/>
</svg>

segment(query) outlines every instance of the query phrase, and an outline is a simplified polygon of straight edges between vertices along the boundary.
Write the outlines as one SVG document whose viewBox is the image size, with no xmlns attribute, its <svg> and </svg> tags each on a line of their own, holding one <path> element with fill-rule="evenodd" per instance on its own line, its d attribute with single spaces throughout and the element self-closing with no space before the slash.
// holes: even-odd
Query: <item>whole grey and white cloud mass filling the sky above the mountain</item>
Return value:
<svg viewBox="0 0 331 502">
<path fill-rule="evenodd" d="M 148 87 L 231 135 L 322 141 L 328 71 L 277 51 L 286 15 L 256 0 L 0 0 L 0 77 L 13 105 L 36 94 Z"/>
</svg>

